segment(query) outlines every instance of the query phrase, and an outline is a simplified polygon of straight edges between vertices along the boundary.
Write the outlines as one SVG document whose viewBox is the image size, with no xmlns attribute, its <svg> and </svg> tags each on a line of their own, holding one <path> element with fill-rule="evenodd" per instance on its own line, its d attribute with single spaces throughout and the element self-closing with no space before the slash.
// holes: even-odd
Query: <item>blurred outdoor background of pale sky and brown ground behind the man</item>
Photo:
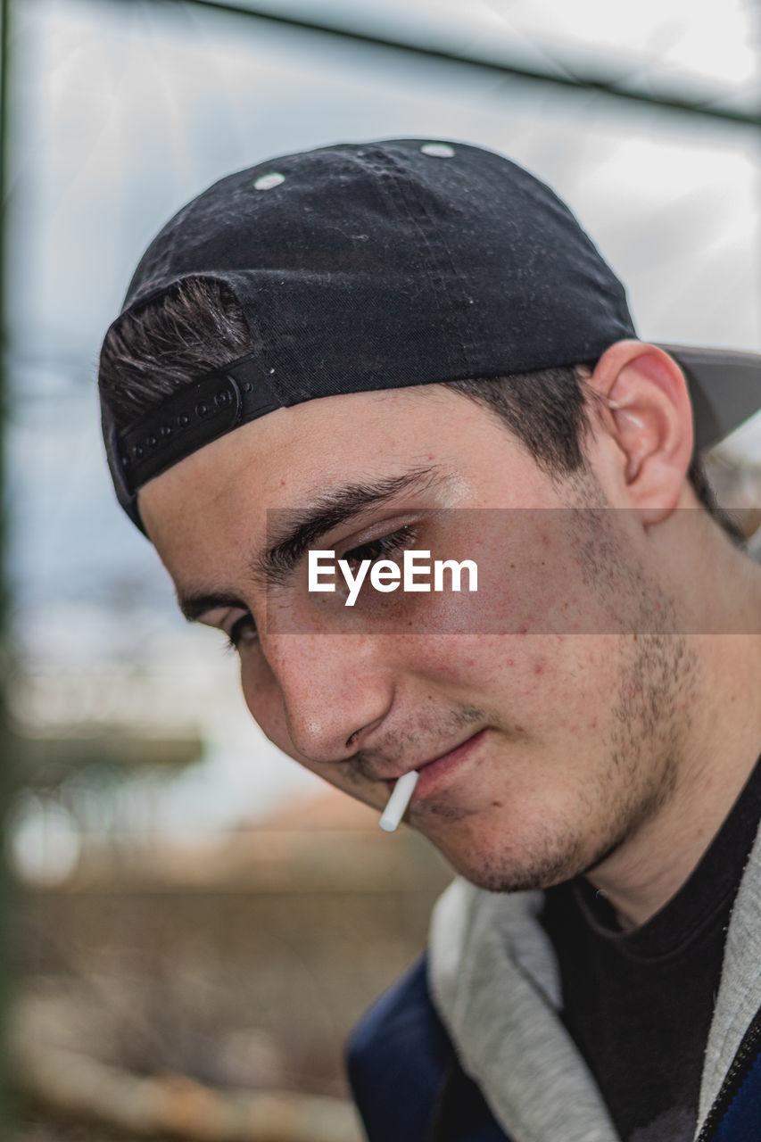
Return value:
<svg viewBox="0 0 761 1142">
<path fill-rule="evenodd" d="M 179 619 L 111 491 L 101 338 L 209 183 L 412 136 L 547 180 L 641 336 L 761 351 L 760 6 L 5 0 L 2 18 L 3 1136 L 354 1142 L 346 1031 L 423 948 L 449 874 L 280 755 L 222 637 Z M 761 418 L 708 467 L 752 537 Z"/>
</svg>

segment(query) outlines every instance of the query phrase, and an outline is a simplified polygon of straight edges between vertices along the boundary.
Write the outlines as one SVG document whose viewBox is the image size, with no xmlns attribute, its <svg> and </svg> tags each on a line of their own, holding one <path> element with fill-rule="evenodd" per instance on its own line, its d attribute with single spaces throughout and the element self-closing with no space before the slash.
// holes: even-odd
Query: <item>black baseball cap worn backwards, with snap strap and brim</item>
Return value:
<svg viewBox="0 0 761 1142">
<path fill-rule="evenodd" d="M 342 144 L 221 179 L 151 242 L 114 325 L 189 278 L 232 289 L 253 351 L 127 427 L 102 394 L 117 496 L 141 529 L 143 484 L 274 409 L 594 363 L 636 336 L 568 207 L 464 143 Z M 698 449 L 761 407 L 760 357 L 663 347 L 686 372 Z"/>
</svg>

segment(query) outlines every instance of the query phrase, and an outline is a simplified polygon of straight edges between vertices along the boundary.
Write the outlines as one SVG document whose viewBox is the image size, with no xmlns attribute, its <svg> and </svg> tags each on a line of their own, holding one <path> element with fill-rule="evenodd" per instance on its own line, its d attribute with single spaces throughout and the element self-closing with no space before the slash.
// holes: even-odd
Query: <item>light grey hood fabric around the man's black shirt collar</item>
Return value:
<svg viewBox="0 0 761 1142">
<path fill-rule="evenodd" d="M 560 978 L 537 920 L 540 892 L 495 893 L 456 879 L 433 912 L 434 1004 L 463 1069 L 514 1142 L 619 1142 L 560 1020 Z M 761 833 L 731 916 L 708 1036 L 698 1128 L 761 1007 Z"/>
</svg>

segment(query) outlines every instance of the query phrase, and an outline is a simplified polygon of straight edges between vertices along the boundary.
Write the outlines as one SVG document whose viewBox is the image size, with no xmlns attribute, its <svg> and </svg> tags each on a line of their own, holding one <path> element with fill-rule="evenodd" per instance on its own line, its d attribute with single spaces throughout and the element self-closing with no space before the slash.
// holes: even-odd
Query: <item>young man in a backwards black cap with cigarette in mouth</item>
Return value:
<svg viewBox="0 0 761 1142">
<path fill-rule="evenodd" d="M 546 186 L 410 139 L 217 183 L 106 336 L 183 612 L 291 757 L 378 811 L 417 771 L 459 874 L 353 1038 L 373 1142 L 761 1137 L 761 569 L 696 459 L 761 378 L 675 353 Z M 351 587 L 412 550 L 478 590 Z"/>
</svg>

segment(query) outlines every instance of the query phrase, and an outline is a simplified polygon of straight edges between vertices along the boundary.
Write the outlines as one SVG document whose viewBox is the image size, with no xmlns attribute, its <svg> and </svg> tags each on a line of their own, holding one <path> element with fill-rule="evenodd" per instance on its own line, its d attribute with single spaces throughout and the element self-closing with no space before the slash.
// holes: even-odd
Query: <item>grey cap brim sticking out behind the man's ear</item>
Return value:
<svg viewBox="0 0 761 1142">
<path fill-rule="evenodd" d="M 696 451 L 718 444 L 761 410 L 761 354 L 662 341 L 658 346 L 684 371 L 692 400 Z"/>
</svg>

